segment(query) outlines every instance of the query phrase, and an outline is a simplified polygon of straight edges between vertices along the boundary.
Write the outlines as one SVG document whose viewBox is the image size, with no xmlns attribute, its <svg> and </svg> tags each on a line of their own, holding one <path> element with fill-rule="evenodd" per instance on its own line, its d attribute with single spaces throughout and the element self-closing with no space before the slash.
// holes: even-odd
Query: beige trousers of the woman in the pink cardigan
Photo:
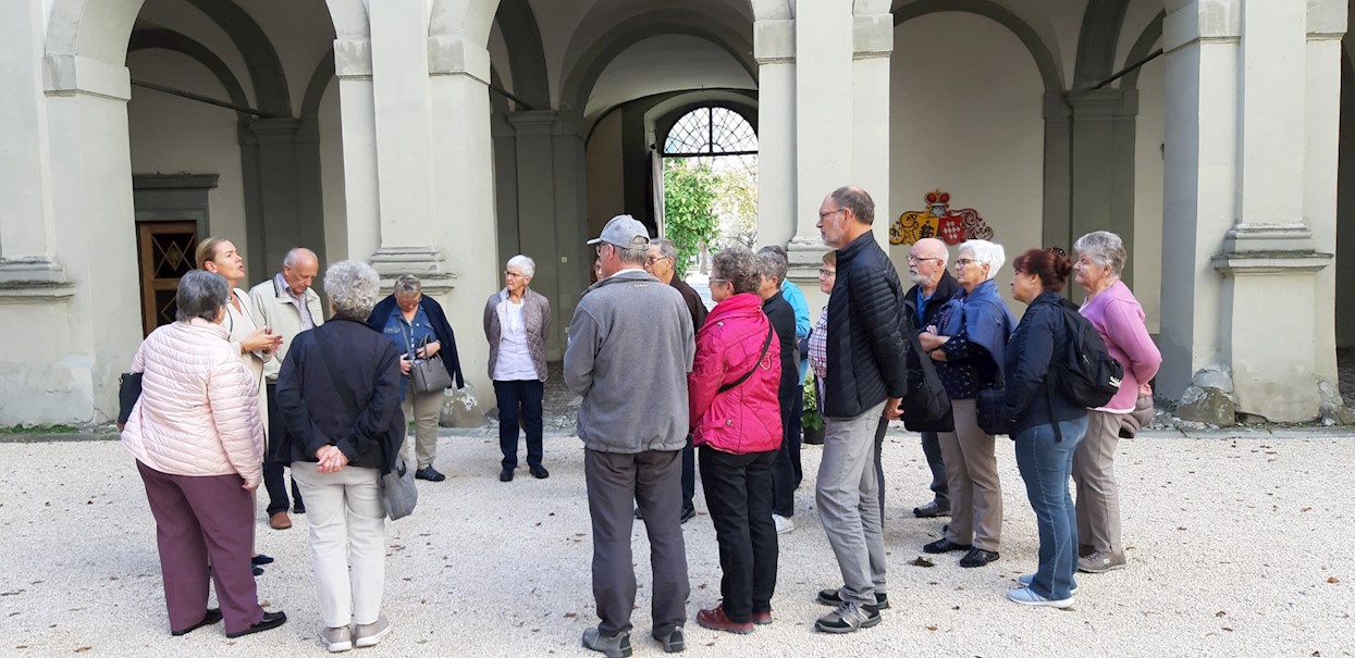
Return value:
<svg viewBox="0 0 1355 658">
<path fill-rule="evenodd" d="M 1077 543 L 1102 552 L 1125 550 L 1119 527 L 1119 483 L 1115 482 L 1121 416 L 1123 414 L 1087 412 L 1087 437 L 1073 452 Z"/>
</svg>

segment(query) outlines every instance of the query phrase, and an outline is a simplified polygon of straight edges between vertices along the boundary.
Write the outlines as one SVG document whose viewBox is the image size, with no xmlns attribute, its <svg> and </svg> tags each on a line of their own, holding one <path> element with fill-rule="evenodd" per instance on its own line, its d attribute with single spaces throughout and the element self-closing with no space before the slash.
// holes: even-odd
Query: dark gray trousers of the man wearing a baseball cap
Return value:
<svg viewBox="0 0 1355 658">
<path fill-rule="evenodd" d="M 635 607 L 635 567 L 630 532 L 634 505 L 645 517 L 653 569 L 654 635 L 667 635 L 687 620 L 687 546 L 682 536 L 682 451 L 634 455 L 584 451 L 588 514 L 593 527 L 593 598 L 598 630 L 604 636 L 630 631 Z"/>
</svg>

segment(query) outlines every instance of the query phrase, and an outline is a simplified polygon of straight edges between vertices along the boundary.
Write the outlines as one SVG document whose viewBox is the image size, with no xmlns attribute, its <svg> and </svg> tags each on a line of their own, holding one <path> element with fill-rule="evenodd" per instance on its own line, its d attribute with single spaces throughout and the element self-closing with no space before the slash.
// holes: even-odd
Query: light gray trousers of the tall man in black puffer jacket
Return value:
<svg viewBox="0 0 1355 658">
<path fill-rule="evenodd" d="M 875 604 L 885 593 L 885 535 L 875 479 L 881 402 L 855 418 L 825 418 L 824 455 L 814 500 L 824 533 L 843 573 L 844 601 Z"/>
</svg>

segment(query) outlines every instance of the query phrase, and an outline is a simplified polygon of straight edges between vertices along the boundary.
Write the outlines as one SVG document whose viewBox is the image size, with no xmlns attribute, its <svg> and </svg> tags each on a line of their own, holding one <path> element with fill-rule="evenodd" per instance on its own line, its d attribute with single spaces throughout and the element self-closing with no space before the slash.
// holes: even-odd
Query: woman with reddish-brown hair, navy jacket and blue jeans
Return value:
<svg viewBox="0 0 1355 658">
<path fill-rule="evenodd" d="M 1087 433 L 1087 410 L 1069 402 L 1050 380 L 1056 355 L 1069 334 L 1060 297 L 1073 265 L 1062 249 L 1031 249 L 1012 263 L 1012 297 L 1028 305 L 1005 352 L 1007 387 L 1001 416 L 1016 441 L 1016 467 L 1039 528 L 1039 569 L 1018 579 L 1007 597 L 1024 605 L 1073 604 L 1077 525 L 1068 474 L 1073 451 Z"/>
</svg>

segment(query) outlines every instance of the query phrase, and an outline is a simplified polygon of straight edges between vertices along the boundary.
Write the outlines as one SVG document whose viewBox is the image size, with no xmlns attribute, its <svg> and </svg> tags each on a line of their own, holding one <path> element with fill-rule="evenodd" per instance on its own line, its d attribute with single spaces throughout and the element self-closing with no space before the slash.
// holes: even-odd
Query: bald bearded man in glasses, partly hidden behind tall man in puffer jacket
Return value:
<svg viewBox="0 0 1355 658">
<path fill-rule="evenodd" d="M 908 324 L 915 332 L 921 332 L 928 325 L 939 324 L 940 307 L 946 306 L 950 298 L 963 288 L 959 282 L 946 269 L 950 252 L 946 242 L 936 238 L 921 238 L 913 242 L 908 252 L 908 279 L 913 287 L 904 295 L 904 305 L 908 306 Z M 927 467 L 932 471 L 932 501 L 913 508 L 913 516 L 931 519 L 936 516 L 950 516 L 950 496 L 946 489 L 946 464 L 940 456 L 940 439 L 936 432 L 923 432 L 923 455 L 927 456 Z M 883 481 L 881 481 L 881 496 L 883 496 Z M 881 498 L 883 500 L 883 498 Z M 881 502 L 883 508 L 883 502 Z"/>
</svg>

